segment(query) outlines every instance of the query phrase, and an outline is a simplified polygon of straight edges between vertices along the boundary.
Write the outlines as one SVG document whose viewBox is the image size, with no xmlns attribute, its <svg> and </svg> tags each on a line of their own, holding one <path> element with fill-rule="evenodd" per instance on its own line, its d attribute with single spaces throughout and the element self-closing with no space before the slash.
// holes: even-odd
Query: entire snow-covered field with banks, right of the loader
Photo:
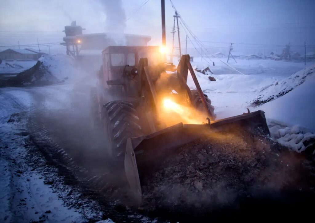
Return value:
<svg viewBox="0 0 315 223">
<path fill-rule="evenodd" d="M 221 61 L 212 59 L 215 66 L 194 58 L 192 66 L 202 70 L 209 66 L 216 81 L 195 72 L 203 91 L 215 107 L 217 118 L 226 118 L 250 111 L 263 110 L 274 140 L 301 152 L 304 141 L 315 135 L 315 65 L 314 62 L 295 63 L 275 60 L 237 60 L 232 70 Z M 224 60 L 224 59 L 222 59 Z M 195 88 L 191 76 L 188 86 Z M 265 104 L 255 105 L 256 100 Z M 287 129 L 285 129 L 287 128 Z M 281 134 L 279 133 L 281 132 Z"/>
</svg>

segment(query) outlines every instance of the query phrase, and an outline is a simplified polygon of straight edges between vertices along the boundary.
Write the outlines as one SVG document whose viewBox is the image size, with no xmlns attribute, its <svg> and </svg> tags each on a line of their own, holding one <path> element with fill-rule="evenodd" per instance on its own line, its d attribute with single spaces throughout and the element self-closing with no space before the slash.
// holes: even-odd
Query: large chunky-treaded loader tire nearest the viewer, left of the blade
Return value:
<svg viewBox="0 0 315 223">
<path fill-rule="evenodd" d="M 108 102 L 103 107 L 105 130 L 108 138 L 108 154 L 123 158 L 128 138 L 142 135 L 135 106 L 123 100 Z"/>
</svg>

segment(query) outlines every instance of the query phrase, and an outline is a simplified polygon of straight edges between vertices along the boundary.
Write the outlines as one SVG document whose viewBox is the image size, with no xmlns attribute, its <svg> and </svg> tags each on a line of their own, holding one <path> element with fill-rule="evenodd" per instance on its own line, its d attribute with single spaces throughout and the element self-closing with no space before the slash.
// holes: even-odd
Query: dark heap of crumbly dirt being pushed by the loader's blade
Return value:
<svg viewBox="0 0 315 223">
<path fill-rule="evenodd" d="M 304 159 L 259 134 L 210 135 L 177 154 L 142 183 L 143 207 L 197 214 L 226 206 L 238 209 L 242 197 L 305 191 L 311 184 L 301 174 Z"/>
</svg>

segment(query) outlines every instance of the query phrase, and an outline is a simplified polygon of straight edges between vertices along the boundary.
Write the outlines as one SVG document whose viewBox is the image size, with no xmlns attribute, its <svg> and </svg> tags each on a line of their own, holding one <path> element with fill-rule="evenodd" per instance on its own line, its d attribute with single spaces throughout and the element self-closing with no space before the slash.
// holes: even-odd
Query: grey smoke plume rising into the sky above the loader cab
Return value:
<svg viewBox="0 0 315 223">
<path fill-rule="evenodd" d="M 117 45 L 126 45 L 124 28 L 126 27 L 126 14 L 121 0 L 100 0 L 106 14 L 105 31 Z"/>
</svg>

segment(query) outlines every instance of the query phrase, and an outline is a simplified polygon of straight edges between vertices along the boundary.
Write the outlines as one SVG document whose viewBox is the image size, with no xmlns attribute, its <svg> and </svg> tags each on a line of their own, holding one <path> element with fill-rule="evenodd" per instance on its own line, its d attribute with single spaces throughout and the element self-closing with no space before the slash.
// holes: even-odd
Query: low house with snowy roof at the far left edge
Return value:
<svg viewBox="0 0 315 223">
<path fill-rule="evenodd" d="M 6 49 L 0 52 L 2 60 L 37 60 L 38 54 L 26 49 Z"/>
</svg>

